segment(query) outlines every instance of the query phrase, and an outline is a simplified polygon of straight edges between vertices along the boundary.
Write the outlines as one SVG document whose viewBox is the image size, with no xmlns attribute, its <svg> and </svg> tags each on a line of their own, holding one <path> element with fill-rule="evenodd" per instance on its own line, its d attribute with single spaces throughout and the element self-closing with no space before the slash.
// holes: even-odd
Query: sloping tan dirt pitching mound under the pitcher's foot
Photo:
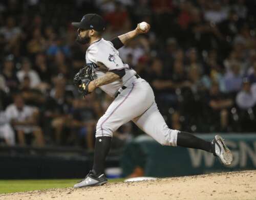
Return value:
<svg viewBox="0 0 256 200">
<path fill-rule="evenodd" d="M 0 199 L 256 199 L 256 170 L 2 194 Z"/>
</svg>

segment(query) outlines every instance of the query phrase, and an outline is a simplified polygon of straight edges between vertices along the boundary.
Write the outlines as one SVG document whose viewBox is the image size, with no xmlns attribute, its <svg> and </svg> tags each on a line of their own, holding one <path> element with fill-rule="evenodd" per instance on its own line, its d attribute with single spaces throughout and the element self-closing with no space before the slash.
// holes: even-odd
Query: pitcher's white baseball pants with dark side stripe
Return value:
<svg viewBox="0 0 256 200">
<path fill-rule="evenodd" d="M 96 126 L 96 137 L 113 136 L 121 125 L 133 121 L 161 145 L 177 146 L 178 130 L 169 129 L 155 102 L 154 92 L 144 79 L 135 76 L 110 104 Z"/>
</svg>

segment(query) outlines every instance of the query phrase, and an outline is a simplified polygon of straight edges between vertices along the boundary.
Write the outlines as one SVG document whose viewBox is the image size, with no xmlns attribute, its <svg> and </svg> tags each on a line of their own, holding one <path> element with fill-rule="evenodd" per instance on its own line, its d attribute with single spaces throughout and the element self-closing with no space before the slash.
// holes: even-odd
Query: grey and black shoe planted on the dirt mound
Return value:
<svg viewBox="0 0 256 200">
<path fill-rule="evenodd" d="M 74 185 L 74 188 L 82 188 L 87 186 L 100 186 L 108 183 L 105 174 L 97 175 L 94 170 L 91 170 L 85 179 Z"/>
</svg>

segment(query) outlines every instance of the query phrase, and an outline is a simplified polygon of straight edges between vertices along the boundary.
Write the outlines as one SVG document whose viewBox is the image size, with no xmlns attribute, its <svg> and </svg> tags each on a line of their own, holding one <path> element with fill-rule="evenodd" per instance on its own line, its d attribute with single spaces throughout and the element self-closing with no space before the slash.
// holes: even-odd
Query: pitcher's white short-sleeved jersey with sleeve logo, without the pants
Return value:
<svg viewBox="0 0 256 200">
<path fill-rule="evenodd" d="M 128 64 L 123 63 L 113 43 L 103 38 L 92 43 L 87 49 L 86 63 L 92 68 L 94 79 L 103 76 L 108 71 L 125 70 L 125 75 L 121 79 L 100 86 L 101 90 L 111 97 L 114 97 L 119 88 L 136 75 L 135 70 L 131 69 Z"/>
</svg>

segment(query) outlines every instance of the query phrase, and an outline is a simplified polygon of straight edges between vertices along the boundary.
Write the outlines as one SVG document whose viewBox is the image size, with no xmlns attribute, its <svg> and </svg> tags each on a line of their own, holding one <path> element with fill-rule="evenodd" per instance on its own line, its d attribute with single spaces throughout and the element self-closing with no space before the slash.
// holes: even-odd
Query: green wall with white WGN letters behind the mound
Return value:
<svg viewBox="0 0 256 200">
<path fill-rule="evenodd" d="M 214 134 L 196 135 L 207 141 Z M 124 149 L 120 165 L 123 175 L 135 167 L 144 169 L 145 176 L 181 176 L 218 171 L 256 169 L 256 134 L 221 134 L 233 153 L 230 166 L 223 166 L 211 153 L 198 149 L 161 146 L 148 136 L 140 136 Z"/>
</svg>

